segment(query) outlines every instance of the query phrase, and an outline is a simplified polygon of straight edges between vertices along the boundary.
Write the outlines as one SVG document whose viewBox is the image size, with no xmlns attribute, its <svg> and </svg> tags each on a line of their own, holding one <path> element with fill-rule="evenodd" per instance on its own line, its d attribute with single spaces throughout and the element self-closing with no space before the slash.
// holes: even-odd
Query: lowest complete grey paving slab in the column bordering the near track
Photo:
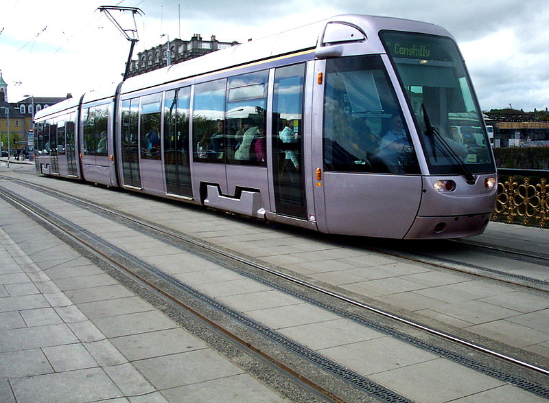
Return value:
<svg viewBox="0 0 549 403">
<path fill-rule="evenodd" d="M 242 369 L 210 349 L 148 358 L 135 361 L 134 365 L 161 390 L 243 373 Z M 166 368 L 170 371 L 165 371 Z"/>
</svg>

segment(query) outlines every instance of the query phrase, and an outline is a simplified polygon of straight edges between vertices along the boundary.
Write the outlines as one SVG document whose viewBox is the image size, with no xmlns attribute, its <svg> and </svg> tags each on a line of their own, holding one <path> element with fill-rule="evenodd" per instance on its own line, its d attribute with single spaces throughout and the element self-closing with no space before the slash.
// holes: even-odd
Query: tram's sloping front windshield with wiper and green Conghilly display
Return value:
<svg viewBox="0 0 549 403">
<path fill-rule="evenodd" d="M 412 107 L 432 174 L 493 172 L 482 116 L 463 58 L 450 38 L 380 34 Z"/>
</svg>

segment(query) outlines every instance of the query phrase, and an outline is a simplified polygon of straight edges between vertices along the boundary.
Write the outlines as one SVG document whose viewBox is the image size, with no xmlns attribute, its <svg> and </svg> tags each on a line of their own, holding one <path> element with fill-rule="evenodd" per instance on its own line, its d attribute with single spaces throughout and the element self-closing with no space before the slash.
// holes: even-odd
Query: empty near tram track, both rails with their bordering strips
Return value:
<svg viewBox="0 0 549 403">
<path fill-rule="evenodd" d="M 144 222 L 139 218 L 128 216 L 120 211 L 114 211 L 113 209 L 90 203 L 88 200 L 58 192 L 54 189 L 38 187 L 36 184 L 19 180 L 13 182 L 28 189 L 33 189 L 34 192 L 42 192 L 58 200 L 64 200 L 65 203 L 80 206 L 82 209 L 93 210 L 96 214 L 121 223 L 134 231 L 140 231 L 149 235 L 154 234 L 154 238 L 161 242 L 183 248 L 185 251 L 198 253 L 198 255 L 207 257 L 209 260 L 213 259 L 215 262 L 230 268 L 239 275 L 259 281 L 268 287 L 272 287 L 293 297 L 298 297 L 302 301 L 306 301 L 306 303 L 313 304 L 341 318 L 402 341 L 414 349 L 422 349 L 425 352 L 436 354 L 447 360 L 458 362 L 469 369 L 489 374 L 489 376 L 498 380 L 513 384 L 544 398 L 549 398 L 549 390 L 547 389 L 549 371 L 546 367 L 537 365 L 535 362 L 528 362 L 527 360 L 500 352 L 497 349 L 469 341 L 466 338 L 436 330 L 400 314 L 395 314 L 395 312 L 379 309 L 376 306 L 364 303 L 364 301 L 358 301 L 341 293 L 334 292 L 334 290 L 320 287 L 299 277 L 288 275 L 288 273 L 277 270 L 272 266 L 261 264 L 248 257 L 208 244 L 207 242 L 202 242 L 189 235 L 160 227 L 152 222 Z M 80 245 L 91 244 L 91 246 L 86 246 L 86 248 L 91 248 L 91 251 L 94 254 L 98 254 L 98 256 L 102 255 L 102 257 L 100 256 L 102 260 L 106 260 L 111 266 L 120 266 L 117 270 L 122 270 L 122 273 L 126 273 L 125 275 L 135 276 L 135 281 L 139 281 L 141 286 L 151 288 L 154 294 L 167 299 L 172 306 L 183 306 L 183 309 L 194 312 L 196 316 L 200 317 L 200 320 L 205 321 L 211 326 L 219 327 L 218 330 L 225 337 L 231 338 L 233 343 L 245 345 L 246 348 L 249 348 L 261 360 L 267 360 L 270 365 L 287 373 L 287 376 L 294 378 L 295 384 L 304 382 L 307 385 L 306 388 L 312 388 L 314 393 L 320 393 L 327 400 L 353 400 L 349 396 L 353 395 L 353 393 L 358 393 L 358 395 L 364 394 L 367 398 L 375 398 L 387 402 L 408 401 L 404 395 L 394 393 L 390 389 L 377 384 L 377 382 L 373 382 L 362 376 L 360 373 L 338 364 L 335 360 L 318 354 L 312 349 L 308 349 L 304 345 L 293 341 L 291 338 L 279 334 L 268 326 L 256 321 L 250 322 L 249 318 L 242 316 L 240 312 L 220 304 L 219 301 L 215 301 L 215 299 L 211 299 L 207 295 L 202 295 L 192 287 L 163 273 L 162 270 L 159 270 L 155 266 L 137 259 L 137 257 L 126 253 L 113 244 L 105 240 L 93 239 L 93 236 L 91 240 L 88 239 L 91 236 L 89 231 L 78 227 L 78 225 L 75 226 L 75 224 L 66 218 L 58 216 L 53 211 L 40 207 L 38 203 L 18 197 L 14 192 L 10 192 L 5 188 L 2 189 L 1 194 L 3 198 L 10 199 L 10 203 L 19 205 L 20 209 L 27 211 L 28 209 L 32 209 L 32 213 L 28 212 L 36 216 L 37 219 L 43 222 L 45 220 L 53 221 L 53 225 L 56 227 L 54 231 L 64 231 L 66 236 L 76 236 L 77 239 L 75 242 L 78 242 Z M 17 200 L 18 198 L 19 200 Z M 121 262 L 125 263 L 121 264 Z M 189 297 L 189 295 L 191 296 Z M 189 305 L 182 303 L 182 301 L 188 299 L 192 301 Z M 205 310 L 207 313 L 197 310 L 197 299 L 209 306 Z M 215 311 L 215 314 L 212 315 L 212 311 Z M 254 341 L 250 341 L 242 335 L 231 334 L 226 327 L 219 326 L 215 318 L 218 318 L 220 313 L 225 317 L 225 321 L 228 316 L 231 318 L 231 323 L 237 321 L 237 323 L 246 327 L 248 332 L 252 329 L 255 334 L 261 330 L 262 339 L 267 338 L 270 343 L 277 345 L 278 348 L 283 347 L 284 352 L 289 351 L 291 354 L 283 354 L 285 356 L 285 360 L 283 361 L 274 360 L 272 356 L 277 356 L 277 354 L 280 354 L 279 352 L 269 354 L 259 347 L 254 347 L 257 345 L 257 341 L 254 343 Z M 421 332 L 421 334 L 418 336 L 417 332 Z M 288 358 L 288 354 L 298 354 L 299 358 L 293 356 L 293 358 Z M 306 360 L 309 363 L 312 362 L 315 371 L 312 371 L 313 373 L 301 373 L 295 367 L 295 362 L 300 360 Z M 293 363 L 289 365 L 288 362 Z M 324 378 L 325 374 L 329 373 L 329 380 L 318 380 L 318 375 L 315 375 L 315 372 L 324 374 L 320 378 Z M 335 390 L 334 382 L 338 384 Z M 343 385 L 347 385 L 350 389 L 342 388 Z M 358 395 L 354 395 L 354 398 Z"/>
</svg>

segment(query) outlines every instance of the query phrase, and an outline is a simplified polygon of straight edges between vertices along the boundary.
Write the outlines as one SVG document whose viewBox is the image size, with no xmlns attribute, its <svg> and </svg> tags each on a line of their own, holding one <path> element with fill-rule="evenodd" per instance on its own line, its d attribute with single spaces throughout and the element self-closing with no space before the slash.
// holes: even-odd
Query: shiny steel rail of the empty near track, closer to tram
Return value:
<svg viewBox="0 0 549 403">
<path fill-rule="evenodd" d="M 17 179 L 16 181 L 20 181 L 20 180 Z M 25 181 L 21 181 L 21 182 L 27 183 Z M 42 188 L 40 185 L 36 185 L 34 183 L 31 183 L 31 185 Z M 89 200 L 84 200 L 82 198 L 78 198 L 77 196 L 72 196 L 70 194 L 66 194 L 65 192 L 59 192 L 58 190 L 51 189 L 49 187 L 44 187 L 44 188 L 51 190 L 51 192 L 56 192 L 58 194 L 62 194 L 64 197 L 71 198 L 73 200 L 78 201 L 79 203 L 85 203 L 87 205 L 90 205 L 91 207 L 94 207 L 96 209 L 105 211 L 106 213 L 111 214 L 113 216 L 118 216 L 120 218 L 123 218 L 124 220 L 129 220 L 130 222 L 134 222 L 135 224 L 138 224 L 142 227 L 149 228 L 149 229 L 152 229 L 154 231 L 158 231 L 160 233 L 165 233 L 165 234 L 170 235 L 170 236 L 172 236 L 176 239 L 182 240 L 182 241 L 187 242 L 189 244 L 192 244 L 194 246 L 198 246 L 201 249 L 205 249 L 206 251 L 216 253 L 218 255 L 229 258 L 229 259 L 234 260 L 236 262 L 240 262 L 242 264 L 246 264 L 248 266 L 252 266 L 254 268 L 257 268 L 258 270 L 264 271 L 265 273 L 269 273 L 270 275 L 274 275 L 276 277 L 285 279 L 286 281 L 290 281 L 293 284 L 298 284 L 299 286 L 308 288 L 310 290 L 314 290 L 316 292 L 320 292 L 323 295 L 327 295 L 327 296 L 332 297 L 334 299 L 337 299 L 339 301 L 344 301 L 345 303 L 351 304 L 351 306 L 362 308 L 362 309 L 367 310 L 369 312 L 374 312 L 375 314 L 379 314 L 380 316 L 384 316 L 388 319 L 392 319 L 393 321 L 397 321 L 398 323 L 404 323 L 404 324 L 406 324 L 406 325 L 408 325 L 412 328 L 422 330 L 423 332 L 426 332 L 428 334 L 432 334 L 434 336 L 439 336 L 439 337 L 444 338 L 448 341 L 452 341 L 454 343 L 464 345 L 466 347 L 469 347 L 469 348 L 474 349 L 476 351 L 482 352 L 484 354 L 488 354 L 490 356 L 500 358 L 500 359 L 502 359 L 504 361 L 507 361 L 507 362 L 513 362 L 513 364 L 519 365 L 520 367 L 528 368 L 528 369 L 531 369 L 531 370 L 536 371 L 538 373 L 542 373 L 544 375 L 549 376 L 549 368 L 541 367 L 539 365 L 532 364 L 532 363 L 527 362 L 525 360 L 522 360 L 520 358 L 516 358 L 516 357 L 513 357 L 509 354 L 504 354 L 504 353 L 498 352 L 495 349 L 491 349 L 490 347 L 481 345 L 479 343 L 475 343 L 474 341 L 469 341 L 465 338 L 462 338 L 460 336 L 456 336 L 454 334 L 450 334 L 450 333 L 445 332 L 443 330 L 437 330 L 434 327 L 430 327 L 428 325 L 424 325 L 423 323 L 419 323 L 417 321 L 413 321 L 411 319 L 408 319 L 404 316 L 388 312 L 387 310 L 376 308 L 375 306 L 364 303 L 362 301 L 358 301 L 357 299 L 347 297 L 347 296 L 342 295 L 338 292 L 328 290 L 327 288 L 324 288 L 324 287 L 321 287 L 321 286 L 316 286 L 315 284 L 311 284 L 307 281 L 299 279 L 298 277 L 294 277 L 292 275 L 288 275 L 287 273 L 283 273 L 279 270 L 275 270 L 275 269 L 270 268 L 268 266 L 265 266 L 263 264 L 253 262 L 252 260 L 249 260 L 246 257 L 242 257 L 242 256 L 236 255 L 234 253 L 224 251 L 224 250 L 219 249 L 215 246 L 208 245 L 205 242 L 200 242 L 200 241 L 194 240 L 193 238 L 189 238 L 189 237 L 187 237 L 185 235 L 182 235 L 180 233 L 176 233 L 175 231 L 171 231 L 169 229 L 159 227 L 159 226 L 157 226 L 155 224 L 152 224 L 150 222 L 143 222 L 143 221 L 141 221 L 137 218 L 133 218 L 132 216 L 122 214 L 119 211 L 114 211 L 112 209 L 108 209 L 108 208 L 103 207 L 101 205 L 97 205 L 95 203 L 92 203 Z"/>
</svg>

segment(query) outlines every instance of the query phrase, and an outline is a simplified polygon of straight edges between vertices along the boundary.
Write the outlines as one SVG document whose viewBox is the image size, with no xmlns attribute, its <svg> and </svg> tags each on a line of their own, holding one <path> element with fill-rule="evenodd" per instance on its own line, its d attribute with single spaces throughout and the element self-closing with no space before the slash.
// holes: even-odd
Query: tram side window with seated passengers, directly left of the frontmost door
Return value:
<svg viewBox="0 0 549 403">
<path fill-rule="evenodd" d="M 267 70 L 229 78 L 226 155 L 229 163 L 266 166 Z"/>
</svg>

